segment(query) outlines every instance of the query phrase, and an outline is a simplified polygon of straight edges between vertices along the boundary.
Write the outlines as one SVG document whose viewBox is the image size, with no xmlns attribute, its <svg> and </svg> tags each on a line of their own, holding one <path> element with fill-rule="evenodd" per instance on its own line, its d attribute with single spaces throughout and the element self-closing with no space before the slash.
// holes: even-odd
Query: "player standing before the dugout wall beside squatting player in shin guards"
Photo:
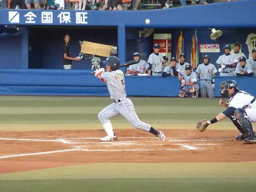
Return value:
<svg viewBox="0 0 256 192">
<path fill-rule="evenodd" d="M 200 91 L 201 97 L 206 98 L 206 93 L 208 93 L 209 98 L 214 97 L 212 77 L 218 72 L 216 67 L 210 63 L 210 56 L 205 55 L 203 58 L 204 63 L 198 65 L 196 73 L 200 78 Z"/>
</svg>

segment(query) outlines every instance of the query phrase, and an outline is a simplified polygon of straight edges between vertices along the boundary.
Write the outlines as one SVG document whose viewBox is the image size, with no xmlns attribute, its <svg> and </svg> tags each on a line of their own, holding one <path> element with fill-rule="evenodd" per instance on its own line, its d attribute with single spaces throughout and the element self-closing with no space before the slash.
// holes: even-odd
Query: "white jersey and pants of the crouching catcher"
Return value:
<svg viewBox="0 0 256 192">
<path fill-rule="evenodd" d="M 255 97 L 245 91 L 234 92 L 229 100 L 228 107 L 243 108 L 244 106 L 249 106 L 246 108 L 245 112 L 250 122 L 256 122 L 256 101 L 252 102 Z M 251 103 L 252 102 L 252 103 Z M 232 115 L 234 119 L 236 117 Z"/>
</svg>

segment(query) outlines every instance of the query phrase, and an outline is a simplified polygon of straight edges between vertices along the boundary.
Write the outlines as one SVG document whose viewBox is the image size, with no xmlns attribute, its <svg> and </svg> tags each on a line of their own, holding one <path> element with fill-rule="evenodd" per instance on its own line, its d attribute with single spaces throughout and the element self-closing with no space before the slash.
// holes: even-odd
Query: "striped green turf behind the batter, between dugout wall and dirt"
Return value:
<svg viewBox="0 0 256 192">
<path fill-rule="evenodd" d="M 194 129 L 202 119 L 212 119 L 225 108 L 216 99 L 130 97 L 139 118 L 156 128 Z M 98 129 L 98 113 L 109 97 L 0 96 L 0 130 Z M 122 116 L 111 119 L 115 129 L 133 128 Z M 212 129 L 234 129 L 226 119 Z"/>
</svg>

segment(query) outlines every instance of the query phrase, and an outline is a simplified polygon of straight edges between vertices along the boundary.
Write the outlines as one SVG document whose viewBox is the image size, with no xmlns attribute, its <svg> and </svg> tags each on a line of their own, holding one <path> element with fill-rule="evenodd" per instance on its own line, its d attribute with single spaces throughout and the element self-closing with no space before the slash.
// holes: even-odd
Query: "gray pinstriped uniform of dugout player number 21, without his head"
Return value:
<svg viewBox="0 0 256 192">
<path fill-rule="evenodd" d="M 154 76 L 162 76 L 163 66 L 162 63 L 164 61 L 164 58 L 162 54 L 150 54 L 148 58 L 148 63 L 152 64 L 152 75 Z"/>
</svg>

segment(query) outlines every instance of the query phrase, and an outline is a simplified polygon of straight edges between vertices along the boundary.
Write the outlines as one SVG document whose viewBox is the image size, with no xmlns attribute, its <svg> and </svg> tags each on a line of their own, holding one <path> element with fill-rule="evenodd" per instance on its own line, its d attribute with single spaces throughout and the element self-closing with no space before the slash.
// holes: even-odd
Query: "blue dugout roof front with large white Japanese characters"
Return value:
<svg viewBox="0 0 256 192">
<path fill-rule="evenodd" d="M 0 10 L 0 25 L 254 28 L 256 0 L 145 11 Z M 145 24 L 146 19 L 150 24 Z M 3 30 L 1 27 L 0 30 Z"/>
</svg>

